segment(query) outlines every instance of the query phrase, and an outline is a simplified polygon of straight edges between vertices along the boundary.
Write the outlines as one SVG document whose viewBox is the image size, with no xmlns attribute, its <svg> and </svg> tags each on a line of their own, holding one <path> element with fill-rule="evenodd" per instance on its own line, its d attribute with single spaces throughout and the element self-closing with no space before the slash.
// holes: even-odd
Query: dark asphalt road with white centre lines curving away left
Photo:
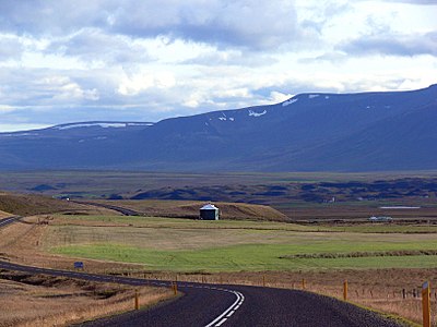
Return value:
<svg viewBox="0 0 437 327">
<path fill-rule="evenodd" d="M 1 220 L 0 227 L 16 221 Z M 0 261 L 0 268 L 130 286 L 169 287 L 170 282 L 46 269 Z M 398 327 L 394 320 L 346 302 L 315 293 L 250 286 L 178 282 L 184 296 L 150 310 L 82 324 L 99 326 L 335 326 Z"/>
</svg>

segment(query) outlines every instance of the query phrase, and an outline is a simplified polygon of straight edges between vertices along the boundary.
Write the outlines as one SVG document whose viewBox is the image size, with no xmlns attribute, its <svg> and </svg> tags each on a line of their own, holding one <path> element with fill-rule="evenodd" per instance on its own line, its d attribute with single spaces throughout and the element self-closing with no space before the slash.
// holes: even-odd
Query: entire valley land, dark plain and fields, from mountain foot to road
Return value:
<svg viewBox="0 0 437 327">
<path fill-rule="evenodd" d="M 5 173 L 0 180 L 11 190 L 14 178 L 14 191 L 33 194 L 0 194 L 0 210 L 27 216 L 0 231 L 4 259 L 61 269 L 72 269 L 80 259 L 91 272 L 167 280 L 178 276 L 259 286 L 264 278 L 280 288 L 302 288 L 305 278 L 308 290 L 333 296 L 341 296 L 347 279 L 351 301 L 415 322 L 421 313 L 413 290 L 417 293 L 424 280 L 437 284 L 433 172 L 84 172 L 82 179 L 75 172 L 54 172 L 46 185 L 46 173 L 32 172 Z M 422 186 L 426 194 L 417 193 Z M 324 194 L 323 199 L 305 197 L 308 192 Z M 139 194 L 152 198 L 133 199 Z M 205 194 L 223 201 L 215 202 L 223 220 L 193 219 Z M 67 196 L 71 201 L 51 198 Z M 393 221 L 371 223 L 371 215 L 392 216 Z"/>
</svg>

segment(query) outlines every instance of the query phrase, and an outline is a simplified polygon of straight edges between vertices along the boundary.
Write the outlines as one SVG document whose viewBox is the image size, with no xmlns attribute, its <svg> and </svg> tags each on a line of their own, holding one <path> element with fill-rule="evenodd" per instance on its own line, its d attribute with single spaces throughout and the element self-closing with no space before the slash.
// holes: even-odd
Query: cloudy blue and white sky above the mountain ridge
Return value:
<svg viewBox="0 0 437 327">
<path fill-rule="evenodd" d="M 437 83 L 437 0 L 0 0 L 0 131 Z"/>
</svg>

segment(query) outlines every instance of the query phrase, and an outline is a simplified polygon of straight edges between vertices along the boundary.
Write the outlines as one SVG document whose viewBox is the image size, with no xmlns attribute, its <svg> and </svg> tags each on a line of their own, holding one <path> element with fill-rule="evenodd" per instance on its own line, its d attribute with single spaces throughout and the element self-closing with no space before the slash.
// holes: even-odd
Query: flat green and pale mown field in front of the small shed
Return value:
<svg viewBox="0 0 437 327">
<path fill-rule="evenodd" d="M 275 222 L 60 216 L 46 232 L 44 246 L 57 254 L 137 263 L 147 270 L 167 271 L 437 267 L 436 255 L 281 258 L 296 254 L 437 251 L 437 233 L 418 233 L 429 231 L 426 227 L 400 227 L 394 233 L 388 228 L 351 226 L 340 230 Z M 415 233 L 404 233 L 408 228 L 416 229 Z"/>
</svg>

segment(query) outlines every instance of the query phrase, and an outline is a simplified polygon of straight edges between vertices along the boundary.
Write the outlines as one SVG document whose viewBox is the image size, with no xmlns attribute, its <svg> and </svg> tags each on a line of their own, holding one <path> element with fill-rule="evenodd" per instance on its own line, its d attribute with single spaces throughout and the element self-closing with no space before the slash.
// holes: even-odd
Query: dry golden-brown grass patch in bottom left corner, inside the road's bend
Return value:
<svg viewBox="0 0 437 327">
<path fill-rule="evenodd" d="M 134 289 L 63 277 L 0 270 L 0 326 L 67 326 L 133 308 Z M 173 296 L 169 289 L 139 289 L 140 305 Z M 7 310 L 5 310 L 7 308 Z"/>
</svg>

